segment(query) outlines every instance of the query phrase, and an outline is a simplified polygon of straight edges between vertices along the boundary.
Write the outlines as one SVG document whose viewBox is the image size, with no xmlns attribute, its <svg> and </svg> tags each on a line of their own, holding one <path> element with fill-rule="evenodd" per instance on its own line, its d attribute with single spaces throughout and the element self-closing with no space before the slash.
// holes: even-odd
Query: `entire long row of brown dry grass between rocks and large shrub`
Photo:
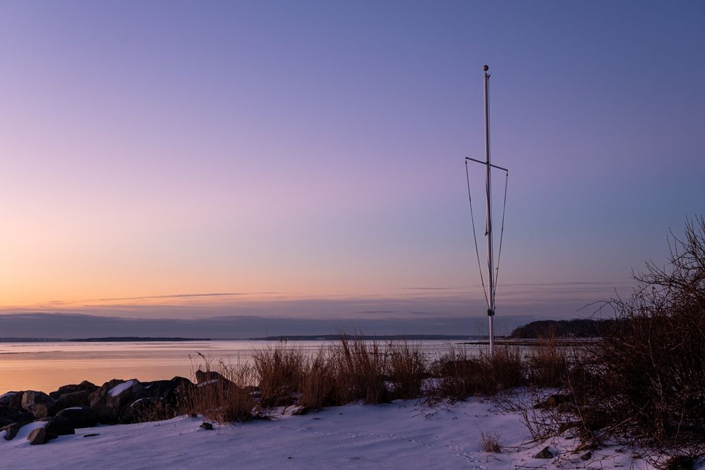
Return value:
<svg viewBox="0 0 705 470">
<path fill-rule="evenodd" d="M 498 346 L 491 355 L 448 345 L 448 351 L 429 364 L 419 345 L 383 345 L 341 335 L 334 345 L 314 354 L 277 346 L 256 351 L 252 364 L 204 360 L 207 373 L 197 375 L 207 383 L 186 394 L 182 408 L 226 422 L 264 416 L 266 410 L 290 404 L 305 412 L 357 400 L 376 404 L 426 398 L 433 404 L 493 396 L 527 385 L 527 378 L 556 383 L 565 369 L 551 364 L 565 367 L 567 360 L 559 348 L 556 342 L 546 342 L 524 361 L 519 347 Z M 545 370 L 554 375 L 545 378 Z"/>
</svg>

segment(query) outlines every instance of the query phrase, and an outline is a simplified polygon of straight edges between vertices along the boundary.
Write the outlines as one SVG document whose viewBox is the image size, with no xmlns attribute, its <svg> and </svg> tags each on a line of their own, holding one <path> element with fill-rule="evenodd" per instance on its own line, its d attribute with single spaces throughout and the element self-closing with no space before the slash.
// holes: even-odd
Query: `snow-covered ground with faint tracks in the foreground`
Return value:
<svg viewBox="0 0 705 470">
<path fill-rule="evenodd" d="M 77 429 L 45 445 L 30 445 L 27 426 L 0 438 L 2 469 L 650 469 L 628 450 L 606 447 L 571 453 L 561 438 L 529 443 L 519 413 L 471 399 L 429 408 L 415 400 L 350 404 L 303 416 L 278 410 L 268 421 L 200 428 L 202 419 Z M 32 425 L 29 425 L 32 426 Z M 4 432 L 0 432 L 2 435 Z M 99 435 L 84 437 L 86 434 Z M 484 452 L 481 433 L 498 435 L 503 449 Z M 537 459 L 546 445 L 557 457 Z M 702 466 L 701 466 L 702 468 Z"/>
</svg>

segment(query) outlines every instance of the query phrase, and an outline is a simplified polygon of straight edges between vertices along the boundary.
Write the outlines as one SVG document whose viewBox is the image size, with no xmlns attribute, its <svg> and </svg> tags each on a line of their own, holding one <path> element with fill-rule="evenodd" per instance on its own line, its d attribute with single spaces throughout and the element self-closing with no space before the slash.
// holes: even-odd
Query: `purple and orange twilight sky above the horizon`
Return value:
<svg viewBox="0 0 705 470">
<path fill-rule="evenodd" d="M 4 1 L 0 336 L 482 328 L 484 64 L 498 332 L 589 316 L 702 214 L 704 58 L 697 1 Z"/>
</svg>

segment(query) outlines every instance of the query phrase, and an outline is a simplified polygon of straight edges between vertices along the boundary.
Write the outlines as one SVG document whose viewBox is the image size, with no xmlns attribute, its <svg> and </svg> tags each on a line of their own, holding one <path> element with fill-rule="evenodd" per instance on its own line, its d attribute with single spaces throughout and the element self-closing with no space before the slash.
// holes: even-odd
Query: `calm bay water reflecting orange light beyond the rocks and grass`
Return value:
<svg viewBox="0 0 705 470">
<path fill-rule="evenodd" d="M 274 341 L 189 342 L 0 342 L 0 394 L 10 390 L 51 392 L 61 385 L 91 381 L 97 385 L 112 378 L 154 381 L 173 376 L 193 378 L 207 359 L 238 364 L 252 353 L 282 345 Z M 329 341 L 287 342 L 286 347 L 316 352 Z M 448 341 L 419 344 L 434 356 L 446 350 Z"/>
</svg>

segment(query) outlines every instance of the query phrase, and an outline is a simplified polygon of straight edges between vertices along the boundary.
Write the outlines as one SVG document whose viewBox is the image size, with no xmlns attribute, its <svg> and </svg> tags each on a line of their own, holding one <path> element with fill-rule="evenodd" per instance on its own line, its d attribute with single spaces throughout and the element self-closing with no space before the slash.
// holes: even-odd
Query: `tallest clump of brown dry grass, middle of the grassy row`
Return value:
<svg viewBox="0 0 705 470">
<path fill-rule="evenodd" d="M 339 404 L 364 400 L 366 403 L 389 401 L 385 375 L 387 356 L 376 341 L 348 339 L 331 348 L 331 368 L 335 376 Z"/>
</svg>

